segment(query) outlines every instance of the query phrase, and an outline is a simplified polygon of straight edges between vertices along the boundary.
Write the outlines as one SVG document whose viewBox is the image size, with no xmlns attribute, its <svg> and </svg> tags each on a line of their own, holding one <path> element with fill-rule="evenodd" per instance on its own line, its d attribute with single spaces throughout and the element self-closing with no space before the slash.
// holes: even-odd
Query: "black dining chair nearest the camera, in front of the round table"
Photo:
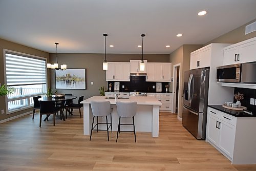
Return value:
<svg viewBox="0 0 256 171">
<path fill-rule="evenodd" d="M 53 115 L 53 126 L 55 126 L 55 116 L 61 108 L 55 105 L 54 101 L 40 101 L 40 122 L 39 127 L 41 127 L 42 115 Z"/>
</svg>

